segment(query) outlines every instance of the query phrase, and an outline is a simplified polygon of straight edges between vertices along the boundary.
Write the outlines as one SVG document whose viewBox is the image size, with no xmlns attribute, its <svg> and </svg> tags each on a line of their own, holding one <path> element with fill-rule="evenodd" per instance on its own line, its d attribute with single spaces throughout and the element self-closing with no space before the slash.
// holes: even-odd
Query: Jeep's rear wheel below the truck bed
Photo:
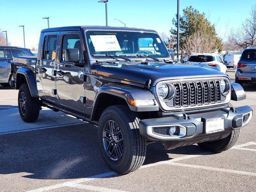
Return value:
<svg viewBox="0 0 256 192">
<path fill-rule="evenodd" d="M 20 86 L 18 93 L 18 108 L 20 117 L 24 122 L 35 122 L 38 119 L 40 111 L 39 99 L 31 96 L 28 84 L 22 84 Z"/>
</svg>

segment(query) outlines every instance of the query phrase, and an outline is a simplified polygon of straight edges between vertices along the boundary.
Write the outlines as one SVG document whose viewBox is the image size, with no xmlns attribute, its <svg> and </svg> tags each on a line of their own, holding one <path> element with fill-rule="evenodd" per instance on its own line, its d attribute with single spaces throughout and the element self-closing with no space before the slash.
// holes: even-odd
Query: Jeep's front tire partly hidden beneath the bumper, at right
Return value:
<svg viewBox="0 0 256 192">
<path fill-rule="evenodd" d="M 240 132 L 239 129 L 234 130 L 226 138 L 215 140 L 215 141 L 198 143 L 198 146 L 200 146 L 203 150 L 214 152 L 214 153 L 220 153 L 222 151 L 226 151 L 232 148 L 232 146 L 234 146 L 234 144 L 238 139 L 239 132 Z"/>
</svg>

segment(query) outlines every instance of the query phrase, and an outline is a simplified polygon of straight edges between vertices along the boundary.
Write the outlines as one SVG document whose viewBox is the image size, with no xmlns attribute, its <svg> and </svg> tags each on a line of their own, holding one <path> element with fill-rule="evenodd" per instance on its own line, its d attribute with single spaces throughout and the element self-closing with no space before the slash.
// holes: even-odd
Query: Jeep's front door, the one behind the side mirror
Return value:
<svg viewBox="0 0 256 192">
<path fill-rule="evenodd" d="M 66 62 L 66 49 L 78 49 L 78 63 Z M 56 89 L 60 104 L 83 111 L 85 104 L 84 58 L 82 40 L 79 32 L 62 32 L 60 34 L 60 57 L 58 59 Z M 78 66 L 81 64 L 81 66 Z"/>
</svg>

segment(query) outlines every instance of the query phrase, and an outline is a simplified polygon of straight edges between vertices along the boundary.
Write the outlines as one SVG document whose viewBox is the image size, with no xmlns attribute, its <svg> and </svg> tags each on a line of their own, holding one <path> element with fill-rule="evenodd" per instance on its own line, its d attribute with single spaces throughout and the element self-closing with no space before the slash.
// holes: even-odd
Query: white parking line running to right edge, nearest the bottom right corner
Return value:
<svg viewBox="0 0 256 192">
<path fill-rule="evenodd" d="M 183 163 L 173 163 L 173 162 L 168 163 L 168 165 L 182 166 L 182 167 L 189 167 L 189 168 L 196 168 L 196 169 L 205 169 L 205 170 L 212 170 L 212 171 L 220 171 L 220 172 L 228 172 L 228 173 L 241 174 L 241 175 L 256 176 L 256 173 L 253 173 L 253 172 L 238 171 L 238 170 L 232 170 L 232 169 L 223 169 L 223 168 L 216 168 L 216 167 L 191 165 L 191 164 L 183 164 Z"/>
</svg>

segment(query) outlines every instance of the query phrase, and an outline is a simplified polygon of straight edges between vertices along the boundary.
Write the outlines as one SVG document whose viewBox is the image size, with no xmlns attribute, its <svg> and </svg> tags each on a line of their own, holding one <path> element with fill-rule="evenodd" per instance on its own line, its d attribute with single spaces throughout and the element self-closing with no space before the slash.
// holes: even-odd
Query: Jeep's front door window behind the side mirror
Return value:
<svg viewBox="0 0 256 192">
<path fill-rule="evenodd" d="M 83 50 L 80 37 L 78 34 L 64 35 L 62 39 L 62 61 L 66 61 L 66 49 L 79 50 L 79 62 L 83 59 Z"/>
</svg>

